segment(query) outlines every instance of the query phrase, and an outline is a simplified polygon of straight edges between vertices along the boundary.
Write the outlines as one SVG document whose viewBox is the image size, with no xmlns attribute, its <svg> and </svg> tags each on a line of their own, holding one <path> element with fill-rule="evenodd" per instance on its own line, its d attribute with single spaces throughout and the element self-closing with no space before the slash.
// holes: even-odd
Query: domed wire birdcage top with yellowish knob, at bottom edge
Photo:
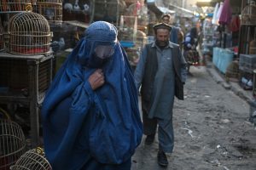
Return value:
<svg viewBox="0 0 256 170">
<path fill-rule="evenodd" d="M 35 148 L 26 151 L 20 156 L 15 165 L 10 167 L 11 170 L 51 170 L 49 161 L 45 158 L 44 149 Z"/>
</svg>

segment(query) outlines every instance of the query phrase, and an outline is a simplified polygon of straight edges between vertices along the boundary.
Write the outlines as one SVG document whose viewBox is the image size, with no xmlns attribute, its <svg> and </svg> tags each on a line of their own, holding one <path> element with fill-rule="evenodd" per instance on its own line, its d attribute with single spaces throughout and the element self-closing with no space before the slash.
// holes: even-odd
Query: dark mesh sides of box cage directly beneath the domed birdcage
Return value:
<svg viewBox="0 0 256 170">
<path fill-rule="evenodd" d="M 46 59 L 38 64 L 38 102 L 44 99 L 44 93 L 49 88 L 52 77 L 52 61 Z M 27 65 L 26 59 L 0 59 L 0 87 L 8 88 L 10 94 L 30 94 L 34 86 L 30 78 L 30 66 Z M 34 74 L 33 74 L 34 75 Z M 34 76 L 33 76 L 34 77 Z"/>
</svg>

